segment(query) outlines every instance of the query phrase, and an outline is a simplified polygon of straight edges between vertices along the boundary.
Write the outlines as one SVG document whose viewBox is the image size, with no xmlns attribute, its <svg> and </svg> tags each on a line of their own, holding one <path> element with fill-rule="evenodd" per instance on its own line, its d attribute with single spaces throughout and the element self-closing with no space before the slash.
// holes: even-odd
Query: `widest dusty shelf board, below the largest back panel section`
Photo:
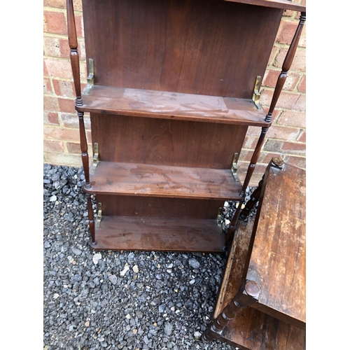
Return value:
<svg viewBox="0 0 350 350">
<path fill-rule="evenodd" d="M 94 85 L 77 111 L 269 127 L 251 99 Z"/>
</svg>

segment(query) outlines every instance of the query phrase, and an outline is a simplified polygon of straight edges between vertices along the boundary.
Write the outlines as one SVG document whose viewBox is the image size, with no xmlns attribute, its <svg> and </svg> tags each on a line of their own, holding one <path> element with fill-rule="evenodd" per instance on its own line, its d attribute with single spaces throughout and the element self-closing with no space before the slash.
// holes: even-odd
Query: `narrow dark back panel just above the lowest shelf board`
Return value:
<svg viewBox="0 0 350 350">
<path fill-rule="evenodd" d="M 216 219 L 223 200 L 188 200 L 167 197 L 96 195 L 104 216 L 141 216 L 144 218 Z"/>
</svg>

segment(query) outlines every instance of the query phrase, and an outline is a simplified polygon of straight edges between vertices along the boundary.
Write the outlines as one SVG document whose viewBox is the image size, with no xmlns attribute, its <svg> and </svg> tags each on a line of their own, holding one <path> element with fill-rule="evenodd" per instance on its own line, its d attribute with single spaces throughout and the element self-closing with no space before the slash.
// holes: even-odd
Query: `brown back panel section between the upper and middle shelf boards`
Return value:
<svg viewBox="0 0 350 350">
<path fill-rule="evenodd" d="M 176 167 L 230 169 L 247 127 L 91 113 L 99 159 Z M 108 132 L 106 132 L 108 130 Z"/>
</svg>

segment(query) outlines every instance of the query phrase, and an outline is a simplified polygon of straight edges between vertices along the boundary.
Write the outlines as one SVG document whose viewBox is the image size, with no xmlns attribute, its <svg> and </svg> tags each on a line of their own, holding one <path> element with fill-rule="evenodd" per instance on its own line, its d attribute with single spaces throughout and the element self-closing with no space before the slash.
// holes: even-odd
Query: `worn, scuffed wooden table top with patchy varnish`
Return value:
<svg viewBox="0 0 350 350">
<path fill-rule="evenodd" d="M 246 276 L 261 286 L 253 307 L 305 328 L 305 171 L 270 167 L 264 181 Z"/>
</svg>

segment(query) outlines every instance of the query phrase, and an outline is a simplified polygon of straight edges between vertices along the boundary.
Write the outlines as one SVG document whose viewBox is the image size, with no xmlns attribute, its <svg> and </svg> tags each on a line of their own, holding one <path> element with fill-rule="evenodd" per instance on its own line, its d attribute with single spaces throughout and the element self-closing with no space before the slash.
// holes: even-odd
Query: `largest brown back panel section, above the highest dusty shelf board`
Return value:
<svg viewBox="0 0 350 350">
<path fill-rule="evenodd" d="M 83 0 L 96 85 L 251 98 L 283 10 L 206 0 Z"/>
</svg>

